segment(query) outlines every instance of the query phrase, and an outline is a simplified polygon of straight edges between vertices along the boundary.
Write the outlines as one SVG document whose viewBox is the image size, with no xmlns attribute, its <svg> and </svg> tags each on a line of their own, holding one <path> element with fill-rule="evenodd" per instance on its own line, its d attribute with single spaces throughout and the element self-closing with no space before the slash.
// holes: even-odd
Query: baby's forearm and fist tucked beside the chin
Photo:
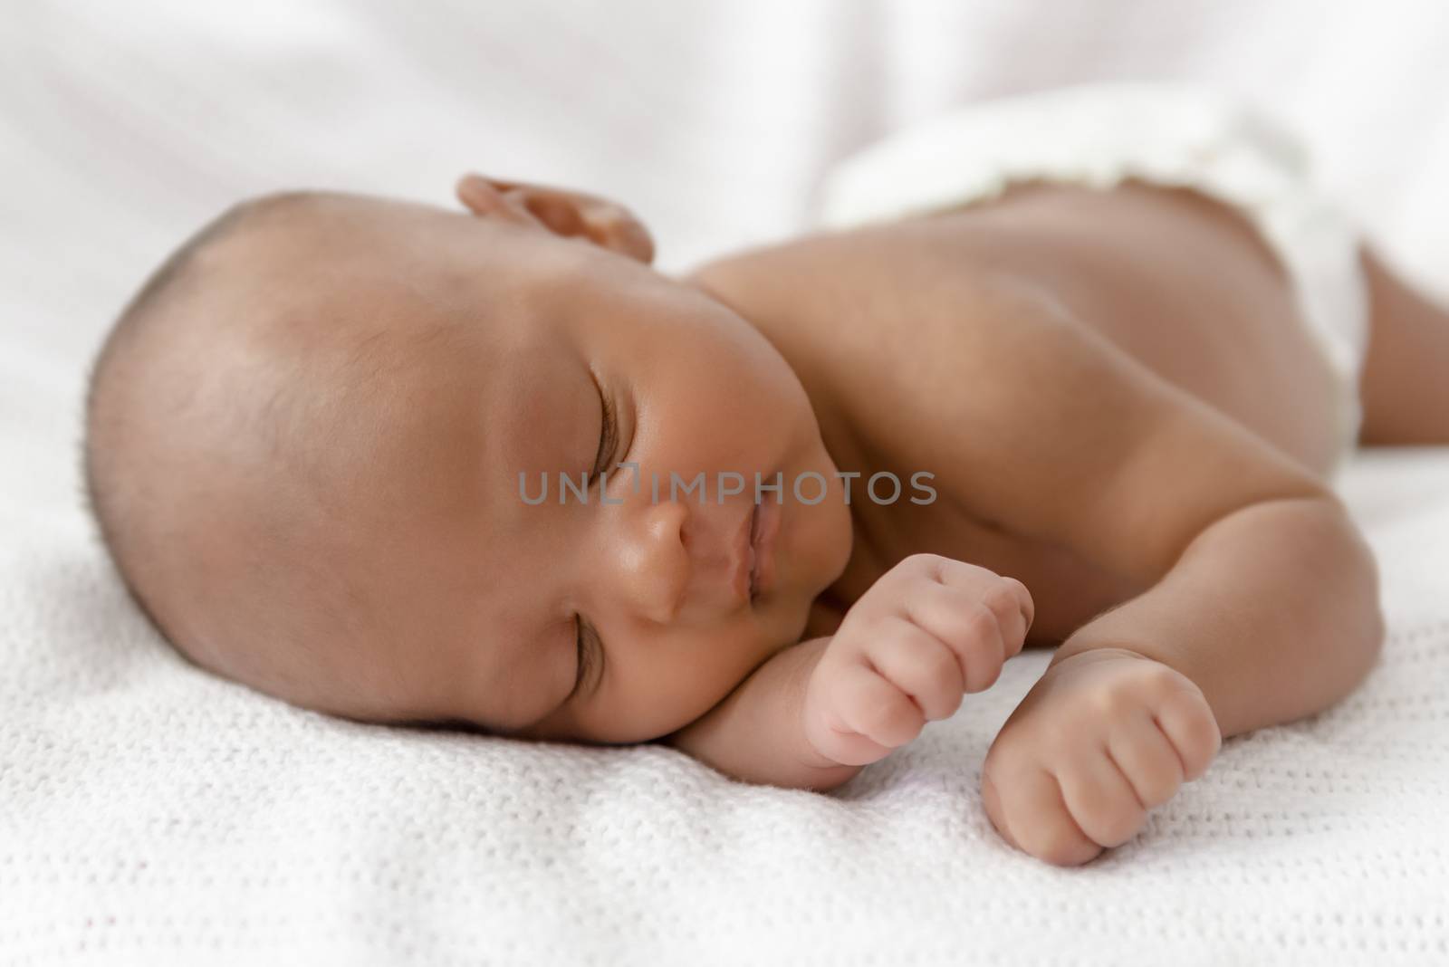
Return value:
<svg viewBox="0 0 1449 967">
<path fill-rule="evenodd" d="M 719 705 L 662 741 L 743 779 L 827 790 L 949 718 L 1020 653 L 1026 585 L 939 554 L 911 554 L 830 637 L 777 653 Z"/>
</svg>

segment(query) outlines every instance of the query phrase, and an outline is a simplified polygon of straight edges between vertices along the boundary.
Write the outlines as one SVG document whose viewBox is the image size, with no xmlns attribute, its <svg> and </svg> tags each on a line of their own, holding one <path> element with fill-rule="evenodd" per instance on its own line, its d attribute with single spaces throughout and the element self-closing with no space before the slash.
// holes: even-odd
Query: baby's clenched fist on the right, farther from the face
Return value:
<svg viewBox="0 0 1449 967">
<path fill-rule="evenodd" d="M 1222 747 L 1185 675 L 1126 649 L 1094 649 L 1042 676 L 997 734 L 981 799 L 1014 847 L 1077 866 L 1126 843 L 1148 809 L 1201 776 Z"/>
</svg>

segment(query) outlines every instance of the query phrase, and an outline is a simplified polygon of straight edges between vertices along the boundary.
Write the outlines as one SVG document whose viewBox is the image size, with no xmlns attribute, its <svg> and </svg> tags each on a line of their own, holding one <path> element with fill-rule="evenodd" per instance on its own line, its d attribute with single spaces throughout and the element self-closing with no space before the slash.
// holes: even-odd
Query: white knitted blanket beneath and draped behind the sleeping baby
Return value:
<svg viewBox="0 0 1449 967">
<path fill-rule="evenodd" d="M 12 4 L 0 964 L 1449 963 L 1449 449 L 1343 481 L 1390 621 L 1364 688 L 1227 741 L 1074 870 L 1007 847 L 978 799 L 1046 654 L 827 796 L 661 747 L 348 724 L 174 657 L 91 537 L 75 457 L 104 324 L 239 195 L 445 203 L 477 166 L 619 197 L 684 268 L 806 224 L 824 166 L 901 123 L 1068 81 L 1277 91 L 1445 291 L 1445 29 L 1410 0 Z"/>
</svg>

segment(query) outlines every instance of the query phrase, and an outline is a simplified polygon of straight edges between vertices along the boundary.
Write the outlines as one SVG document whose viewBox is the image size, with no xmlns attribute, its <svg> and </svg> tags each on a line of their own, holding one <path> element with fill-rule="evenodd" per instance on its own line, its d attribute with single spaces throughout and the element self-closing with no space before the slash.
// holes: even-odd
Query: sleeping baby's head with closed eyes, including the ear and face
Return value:
<svg viewBox="0 0 1449 967">
<path fill-rule="evenodd" d="M 296 705 L 665 735 L 842 573 L 836 468 L 784 358 L 652 269 L 627 211 L 477 177 L 459 197 L 268 195 L 183 246 L 91 369 L 100 533 L 172 646 Z M 826 499 L 793 498 L 807 472 Z M 785 488 L 752 598 L 756 473 Z"/>
</svg>

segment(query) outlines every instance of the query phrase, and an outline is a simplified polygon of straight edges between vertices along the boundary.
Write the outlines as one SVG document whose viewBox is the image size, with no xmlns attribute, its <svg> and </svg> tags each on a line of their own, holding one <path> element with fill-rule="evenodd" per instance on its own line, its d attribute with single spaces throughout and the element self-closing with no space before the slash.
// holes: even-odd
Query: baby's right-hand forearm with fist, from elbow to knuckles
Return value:
<svg viewBox="0 0 1449 967">
<path fill-rule="evenodd" d="M 1022 850 L 1084 863 L 1136 835 L 1223 738 L 1343 698 L 1381 637 L 1372 556 L 1343 508 L 1250 504 L 1058 649 L 987 753 L 987 814 Z"/>
</svg>

